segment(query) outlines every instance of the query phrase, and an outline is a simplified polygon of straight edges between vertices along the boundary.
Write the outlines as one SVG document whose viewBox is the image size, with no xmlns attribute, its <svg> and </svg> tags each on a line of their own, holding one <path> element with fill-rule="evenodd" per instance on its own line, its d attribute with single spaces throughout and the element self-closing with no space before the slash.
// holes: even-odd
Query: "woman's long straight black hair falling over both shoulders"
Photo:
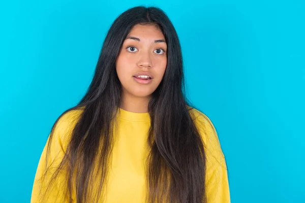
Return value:
<svg viewBox="0 0 305 203">
<path fill-rule="evenodd" d="M 47 154 L 60 117 L 70 111 L 81 112 L 49 187 L 59 170 L 65 170 L 65 194 L 70 202 L 74 190 L 77 202 L 95 202 L 100 198 L 107 181 L 113 124 L 121 101 L 115 62 L 125 38 L 136 24 L 159 26 L 168 47 L 164 77 L 148 103 L 151 121 L 147 137 L 150 151 L 146 159 L 146 201 L 206 202 L 204 144 L 190 113 L 194 105 L 186 98 L 180 43 L 173 24 L 157 7 L 131 8 L 111 25 L 87 92 L 78 105 L 60 115 L 52 127 Z M 97 190 L 93 189 L 95 181 L 99 187 L 93 194 Z"/>
</svg>

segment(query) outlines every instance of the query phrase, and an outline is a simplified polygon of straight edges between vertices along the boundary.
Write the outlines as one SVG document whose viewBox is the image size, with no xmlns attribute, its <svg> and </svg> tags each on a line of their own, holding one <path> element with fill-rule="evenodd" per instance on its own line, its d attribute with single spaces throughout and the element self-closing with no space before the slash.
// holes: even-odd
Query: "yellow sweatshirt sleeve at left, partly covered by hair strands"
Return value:
<svg viewBox="0 0 305 203">
<path fill-rule="evenodd" d="M 52 180 L 52 176 L 55 173 L 59 163 L 64 158 L 67 149 L 68 142 L 66 134 L 69 130 L 68 123 L 67 115 L 62 116 L 58 120 L 54 128 L 53 137 L 46 160 L 47 147 L 50 139 L 49 134 L 38 163 L 32 189 L 31 203 L 42 202 L 42 197 L 44 197 L 44 202 L 69 202 L 64 195 L 64 191 L 66 189 L 66 179 L 63 171 L 59 171 L 57 177 L 53 179 L 53 183 L 49 185 L 49 182 Z"/>
</svg>

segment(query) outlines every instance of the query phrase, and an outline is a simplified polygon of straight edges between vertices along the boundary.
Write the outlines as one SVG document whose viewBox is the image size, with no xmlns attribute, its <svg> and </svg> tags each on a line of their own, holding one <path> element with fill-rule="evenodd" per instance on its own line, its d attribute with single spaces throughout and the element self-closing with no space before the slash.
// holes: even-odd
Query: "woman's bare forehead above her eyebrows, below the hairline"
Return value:
<svg viewBox="0 0 305 203">
<path fill-rule="evenodd" d="M 132 29 L 129 32 L 129 35 L 127 37 L 138 37 L 138 38 L 146 38 L 146 39 L 152 39 L 156 40 L 158 39 L 164 39 L 164 35 L 159 28 L 158 25 L 155 24 L 147 24 L 147 25 L 141 25 L 136 24 L 132 27 Z M 144 39 L 143 39 L 144 40 Z M 141 39 L 142 41 L 142 39 Z"/>
</svg>

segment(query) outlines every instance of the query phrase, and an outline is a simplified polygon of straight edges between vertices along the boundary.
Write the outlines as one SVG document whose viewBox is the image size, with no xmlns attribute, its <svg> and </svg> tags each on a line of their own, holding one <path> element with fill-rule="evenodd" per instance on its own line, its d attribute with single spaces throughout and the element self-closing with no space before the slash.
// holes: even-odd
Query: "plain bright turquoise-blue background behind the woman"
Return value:
<svg viewBox="0 0 305 203">
<path fill-rule="evenodd" d="M 305 202 L 304 1 L 1 1 L 0 202 L 29 202 L 56 118 L 92 79 L 113 20 L 172 20 L 188 93 L 218 130 L 231 201 Z"/>
</svg>

